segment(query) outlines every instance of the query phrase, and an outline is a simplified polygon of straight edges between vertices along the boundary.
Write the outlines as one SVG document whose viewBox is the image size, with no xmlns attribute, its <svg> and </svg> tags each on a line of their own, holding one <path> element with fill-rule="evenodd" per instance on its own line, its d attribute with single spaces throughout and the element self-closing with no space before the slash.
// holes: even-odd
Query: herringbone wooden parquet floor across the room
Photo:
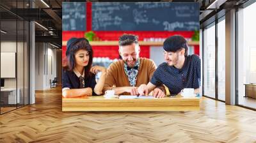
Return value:
<svg viewBox="0 0 256 143">
<path fill-rule="evenodd" d="M 193 112 L 62 112 L 61 89 L 0 116 L 0 142 L 256 142 L 256 112 L 202 98 Z"/>
</svg>

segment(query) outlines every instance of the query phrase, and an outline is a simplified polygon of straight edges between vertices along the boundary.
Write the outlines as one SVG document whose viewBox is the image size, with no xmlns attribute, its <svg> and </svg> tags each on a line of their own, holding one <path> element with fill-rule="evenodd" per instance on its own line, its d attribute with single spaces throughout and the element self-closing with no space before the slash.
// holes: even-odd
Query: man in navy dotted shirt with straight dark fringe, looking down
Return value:
<svg viewBox="0 0 256 143">
<path fill-rule="evenodd" d="M 171 94 L 179 94 L 184 88 L 194 88 L 200 93 L 200 59 L 188 56 L 188 43 L 183 36 L 170 36 L 164 41 L 165 63 L 158 66 L 148 84 L 138 88 L 140 94 L 147 94 L 158 85 L 164 84 Z"/>
</svg>

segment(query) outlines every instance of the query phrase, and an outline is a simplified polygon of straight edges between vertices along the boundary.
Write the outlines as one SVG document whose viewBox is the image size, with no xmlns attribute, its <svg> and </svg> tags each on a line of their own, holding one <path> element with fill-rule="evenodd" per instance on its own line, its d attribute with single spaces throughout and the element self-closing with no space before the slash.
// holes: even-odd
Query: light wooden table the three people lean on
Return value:
<svg viewBox="0 0 256 143">
<path fill-rule="evenodd" d="M 200 98 L 105 99 L 103 96 L 62 98 L 63 111 L 188 111 L 199 110 Z"/>
</svg>

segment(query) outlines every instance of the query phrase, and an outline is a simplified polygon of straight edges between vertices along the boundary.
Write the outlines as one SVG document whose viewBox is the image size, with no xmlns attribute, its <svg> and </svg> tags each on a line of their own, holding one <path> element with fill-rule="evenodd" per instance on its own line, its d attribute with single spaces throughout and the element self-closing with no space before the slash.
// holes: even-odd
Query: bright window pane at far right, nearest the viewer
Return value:
<svg viewBox="0 0 256 143">
<path fill-rule="evenodd" d="M 256 109 L 256 3 L 241 9 L 238 19 L 238 104 Z"/>
</svg>

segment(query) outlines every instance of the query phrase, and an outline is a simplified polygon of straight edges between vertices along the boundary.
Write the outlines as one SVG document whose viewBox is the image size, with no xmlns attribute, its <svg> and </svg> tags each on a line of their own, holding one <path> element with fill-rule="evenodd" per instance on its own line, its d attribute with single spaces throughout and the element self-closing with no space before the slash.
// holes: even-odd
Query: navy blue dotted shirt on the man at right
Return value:
<svg viewBox="0 0 256 143">
<path fill-rule="evenodd" d="M 150 82 L 155 86 L 164 84 L 168 87 L 170 94 L 178 94 L 184 88 L 199 88 L 200 63 L 200 58 L 196 55 L 187 56 L 181 69 L 162 63 L 157 67 Z"/>
</svg>

